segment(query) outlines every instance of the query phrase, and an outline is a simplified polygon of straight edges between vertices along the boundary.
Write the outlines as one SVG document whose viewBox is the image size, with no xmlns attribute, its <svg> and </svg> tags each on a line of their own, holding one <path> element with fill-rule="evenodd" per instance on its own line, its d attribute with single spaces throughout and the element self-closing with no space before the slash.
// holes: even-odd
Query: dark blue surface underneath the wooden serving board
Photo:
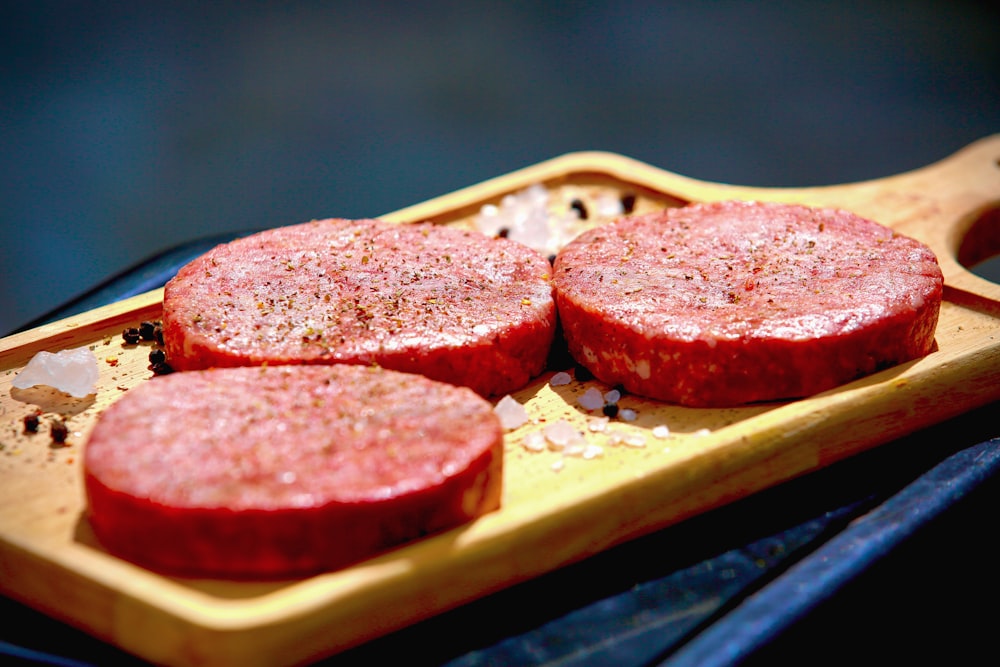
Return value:
<svg viewBox="0 0 1000 667">
<path fill-rule="evenodd" d="M 226 238 L 163 253 L 44 319 L 161 285 Z M 998 405 L 321 662 L 702 667 L 971 657 L 1000 593 L 991 526 Z M 140 664 L 0 599 L 0 657 Z M 977 630 L 980 631 L 977 633 Z M 60 662 L 64 661 L 64 662 Z M 123 662 L 124 661 L 124 662 Z M 814 662 L 815 661 L 815 662 Z M 7 664 L 7 663 L 3 663 Z"/>
</svg>

